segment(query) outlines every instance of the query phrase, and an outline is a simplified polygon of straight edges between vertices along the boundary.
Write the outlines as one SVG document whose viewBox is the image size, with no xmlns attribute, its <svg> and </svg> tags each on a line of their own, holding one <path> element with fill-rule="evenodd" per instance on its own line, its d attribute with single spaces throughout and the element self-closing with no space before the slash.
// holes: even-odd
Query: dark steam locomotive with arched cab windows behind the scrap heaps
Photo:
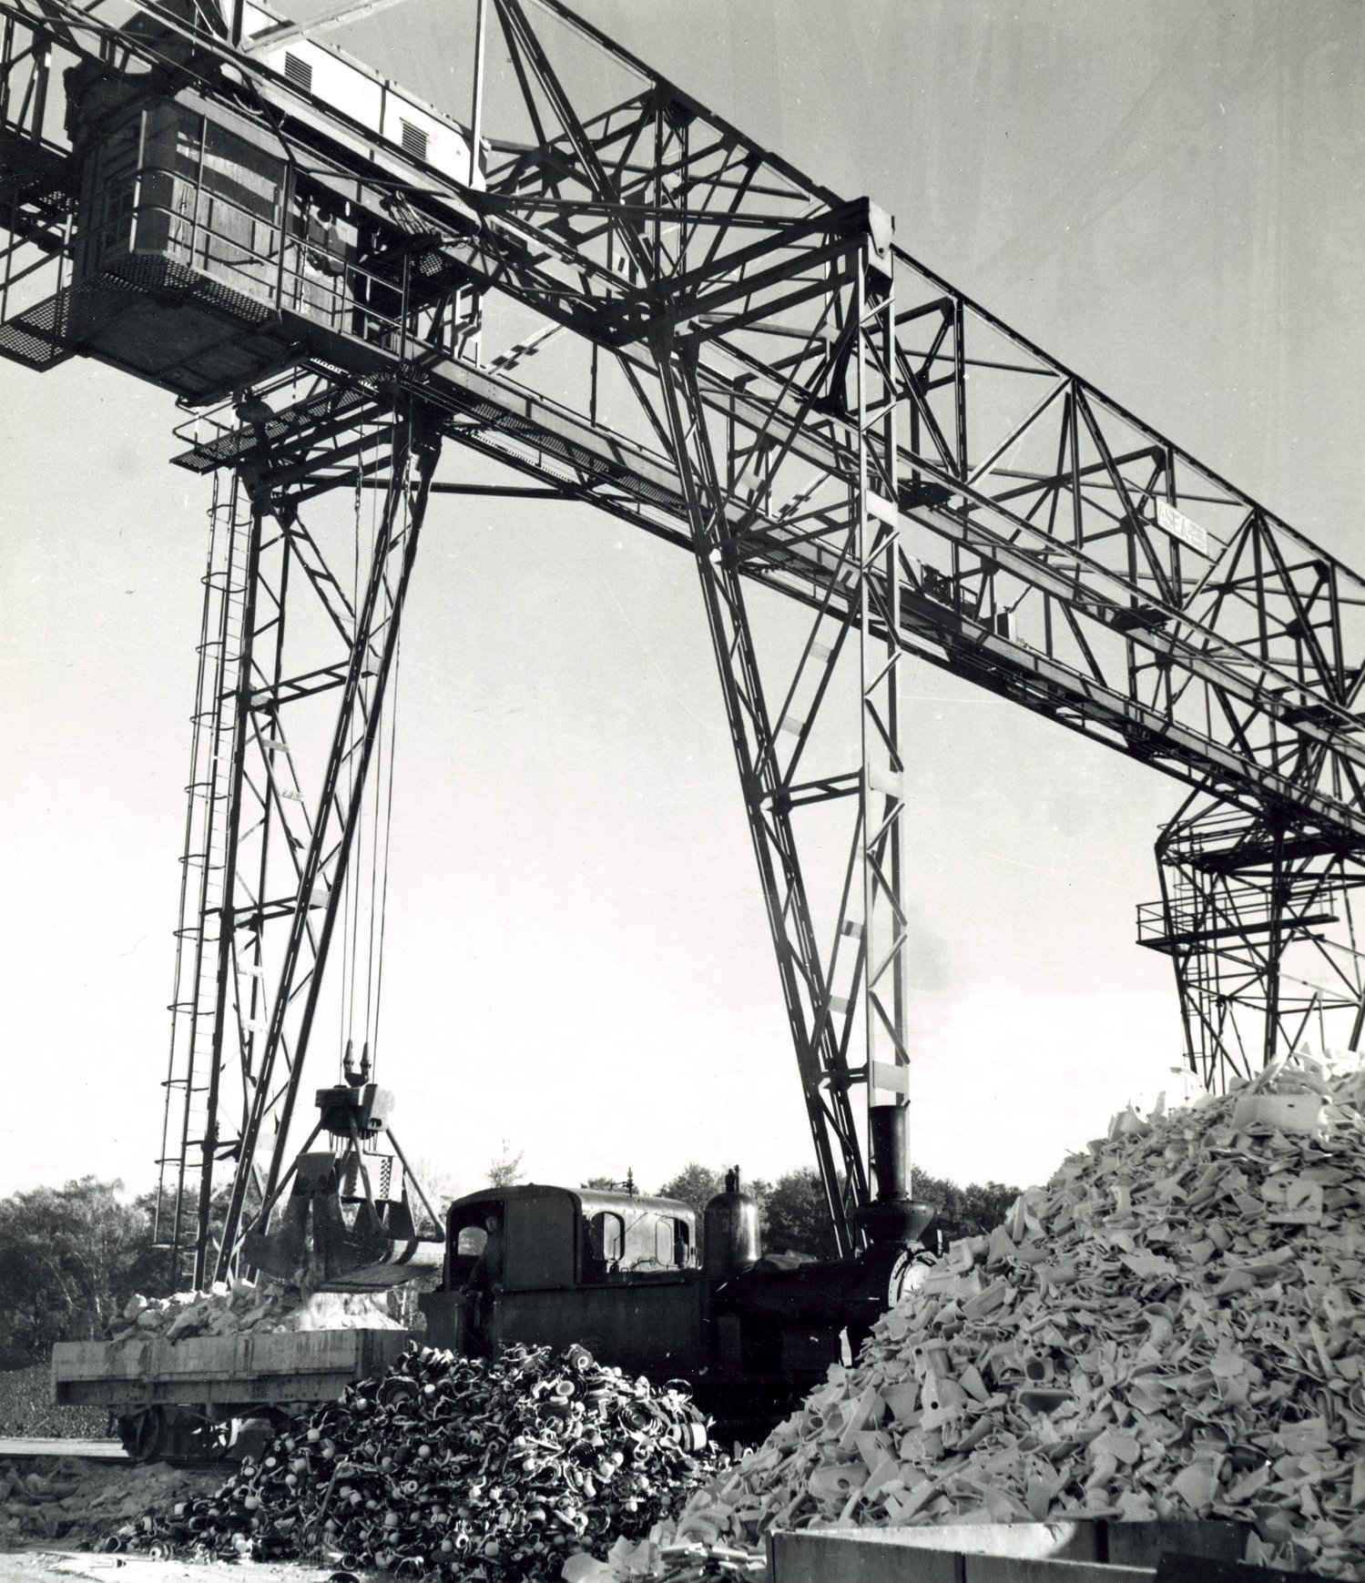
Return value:
<svg viewBox="0 0 1365 1583">
<path fill-rule="evenodd" d="M 600 1363 L 681 1377 L 727 1431 L 771 1426 L 887 1306 L 901 1244 L 852 1260 L 763 1258 L 738 1173 L 697 1213 L 675 1198 L 488 1187 L 447 1216 L 445 1271 L 421 1296 L 426 1342 L 496 1355 L 581 1344 Z"/>
</svg>

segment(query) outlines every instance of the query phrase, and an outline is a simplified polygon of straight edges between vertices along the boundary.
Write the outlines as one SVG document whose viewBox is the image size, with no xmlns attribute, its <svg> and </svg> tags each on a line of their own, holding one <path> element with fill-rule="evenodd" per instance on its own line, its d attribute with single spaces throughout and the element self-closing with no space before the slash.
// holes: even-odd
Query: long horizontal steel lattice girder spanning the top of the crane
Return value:
<svg viewBox="0 0 1365 1583">
<path fill-rule="evenodd" d="M 709 532 L 733 589 L 759 581 L 817 621 L 857 613 L 865 644 L 966 676 L 1251 820 L 1365 847 L 1362 579 L 895 249 L 895 454 L 877 518 L 895 556 L 850 562 L 847 505 L 808 491 L 817 476 L 865 494 L 854 348 L 828 307 L 850 239 L 873 233 L 866 206 L 809 182 L 557 0 L 542 0 L 549 21 L 535 27 L 519 0 L 497 0 L 516 114 L 491 128 L 469 188 L 416 166 L 394 177 L 394 160 L 377 169 L 345 117 L 318 130 L 317 106 L 258 62 L 147 9 L 201 52 L 176 63 L 206 100 L 223 98 L 215 71 L 231 65 L 249 84 L 230 95 L 234 114 L 339 193 L 378 201 L 397 185 L 428 245 L 481 291 L 486 326 L 502 306 L 519 315 L 500 339 L 488 332 L 483 366 L 442 355 L 416 323 L 386 374 L 314 363 L 328 399 L 363 412 L 418 394 L 451 438 L 694 551 L 702 450 L 741 476 L 776 453 L 763 489 L 743 495 L 727 476 L 719 491 Z M 92 57 L 184 55 L 128 44 L 71 0 L 0 0 L 0 13 Z M 614 85 L 576 97 L 557 66 L 565 40 L 605 55 Z M 852 361 L 868 366 L 861 350 Z M 689 370 L 686 443 L 668 418 L 675 363 Z M 258 450 L 258 435 L 223 432 L 181 461 L 250 465 Z M 307 489 L 347 469 L 339 450 Z M 713 500 L 717 488 L 705 486 Z M 797 790 L 819 801 L 836 785 Z M 1213 937 L 1205 948 L 1219 950 Z"/>
</svg>

